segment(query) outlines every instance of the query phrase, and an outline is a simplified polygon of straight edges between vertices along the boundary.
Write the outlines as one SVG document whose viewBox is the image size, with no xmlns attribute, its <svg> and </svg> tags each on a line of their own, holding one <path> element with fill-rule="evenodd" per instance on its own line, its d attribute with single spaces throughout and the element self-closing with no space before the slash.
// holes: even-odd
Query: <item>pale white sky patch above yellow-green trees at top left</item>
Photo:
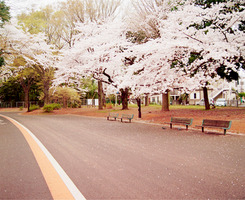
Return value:
<svg viewBox="0 0 245 200">
<path fill-rule="evenodd" d="M 36 10 L 46 5 L 54 5 L 65 0 L 5 0 L 6 5 L 10 6 L 11 16 L 15 17 L 22 12 Z"/>
</svg>

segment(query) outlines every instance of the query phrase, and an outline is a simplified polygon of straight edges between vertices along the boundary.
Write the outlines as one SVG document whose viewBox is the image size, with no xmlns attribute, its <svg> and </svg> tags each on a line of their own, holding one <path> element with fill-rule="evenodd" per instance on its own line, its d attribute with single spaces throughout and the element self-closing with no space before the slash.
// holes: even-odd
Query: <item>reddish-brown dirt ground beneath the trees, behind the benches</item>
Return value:
<svg viewBox="0 0 245 200">
<path fill-rule="evenodd" d="M 16 109 L 11 110 L 11 109 L 1 108 L 0 112 L 14 111 L 14 110 Z M 208 111 L 204 109 L 186 109 L 185 107 L 183 107 L 183 109 L 170 108 L 170 111 L 163 112 L 160 110 L 160 108 L 148 106 L 148 107 L 142 107 L 141 119 L 138 118 L 137 108 L 129 108 L 129 110 L 121 110 L 120 106 L 114 107 L 113 109 L 104 109 L 104 110 L 98 110 L 98 108 L 94 108 L 94 107 L 66 108 L 66 109 L 62 108 L 60 110 L 55 110 L 52 113 L 44 113 L 42 110 L 36 110 L 30 113 L 24 111 L 22 114 L 24 115 L 75 114 L 75 115 L 106 118 L 109 112 L 117 112 L 119 113 L 119 116 L 122 113 L 134 114 L 133 121 L 142 122 L 142 123 L 162 124 L 166 128 L 169 125 L 164 124 L 164 122 L 169 122 L 171 117 L 193 118 L 193 125 L 190 127 L 190 129 L 198 129 L 195 127 L 195 125 L 201 125 L 203 119 L 231 120 L 232 121 L 231 129 L 228 130 L 227 133 L 245 134 L 245 108 L 234 108 L 234 107 L 216 108 Z M 179 127 L 180 126 L 175 126 L 174 128 L 179 128 Z M 198 130 L 200 130 L 200 128 Z M 206 130 L 209 131 L 210 129 L 206 129 Z M 221 129 L 217 129 L 215 130 L 215 132 L 216 131 L 218 133 L 223 133 L 223 130 Z"/>
</svg>

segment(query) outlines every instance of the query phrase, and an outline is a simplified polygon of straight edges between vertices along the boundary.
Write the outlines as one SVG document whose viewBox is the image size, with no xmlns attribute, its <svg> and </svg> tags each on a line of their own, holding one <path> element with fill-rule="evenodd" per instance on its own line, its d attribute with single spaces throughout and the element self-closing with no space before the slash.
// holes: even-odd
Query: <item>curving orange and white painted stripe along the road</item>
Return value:
<svg viewBox="0 0 245 200">
<path fill-rule="evenodd" d="M 51 154 L 47 156 L 47 153 L 45 153 L 43 148 L 40 147 L 40 144 L 37 143 L 38 139 L 31 135 L 31 132 L 27 128 L 12 118 L 4 115 L 0 116 L 12 122 L 25 137 L 42 171 L 53 199 L 85 199 L 69 177 L 66 174 L 64 175 L 65 172 L 62 170 L 59 164 L 56 161 L 50 161 Z M 38 140 L 38 142 L 40 141 Z M 54 160 L 53 157 L 51 159 Z"/>
</svg>

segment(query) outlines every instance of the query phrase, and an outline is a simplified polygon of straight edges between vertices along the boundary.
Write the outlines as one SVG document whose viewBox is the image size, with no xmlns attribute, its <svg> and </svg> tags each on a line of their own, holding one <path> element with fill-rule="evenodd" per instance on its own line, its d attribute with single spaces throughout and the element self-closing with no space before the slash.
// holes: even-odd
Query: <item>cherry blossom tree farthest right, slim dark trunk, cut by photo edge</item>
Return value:
<svg viewBox="0 0 245 200">
<path fill-rule="evenodd" d="M 198 79 L 203 87 L 205 107 L 210 109 L 208 84 L 220 77 L 232 78 L 242 63 L 244 66 L 245 35 L 240 29 L 244 26 L 245 5 L 227 1 L 206 6 L 186 5 L 177 12 L 179 17 L 172 17 L 180 24 L 176 28 L 193 45 L 187 54 L 188 62 L 179 60 L 178 65 L 186 64 L 185 70 Z"/>
</svg>

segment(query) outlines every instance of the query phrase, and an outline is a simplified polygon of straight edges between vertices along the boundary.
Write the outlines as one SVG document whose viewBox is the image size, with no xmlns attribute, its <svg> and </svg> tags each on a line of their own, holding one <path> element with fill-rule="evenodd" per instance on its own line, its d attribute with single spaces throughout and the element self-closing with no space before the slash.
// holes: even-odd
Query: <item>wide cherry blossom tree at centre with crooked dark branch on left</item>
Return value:
<svg viewBox="0 0 245 200">
<path fill-rule="evenodd" d="M 126 38 L 125 28 L 115 22 L 81 28 L 86 35 L 78 39 L 74 48 L 64 52 L 64 60 L 59 64 L 57 76 L 62 77 L 61 81 L 92 74 L 108 84 L 108 93 L 121 92 L 123 109 L 127 109 L 129 92 L 139 98 L 145 93 L 165 92 L 180 85 L 182 72 L 170 69 L 168 55 L 175 52 L 172 48 L 170 53 L 172 44 L 164 46 L 161 40 L 134 44 Z"/>
</svg>

